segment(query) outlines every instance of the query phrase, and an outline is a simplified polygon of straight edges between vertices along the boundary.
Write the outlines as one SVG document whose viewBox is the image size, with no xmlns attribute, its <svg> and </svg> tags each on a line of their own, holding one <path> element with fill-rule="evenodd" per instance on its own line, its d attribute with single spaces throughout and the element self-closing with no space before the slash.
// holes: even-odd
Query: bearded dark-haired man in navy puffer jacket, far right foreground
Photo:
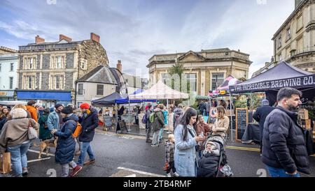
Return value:
<svg viewBox="0 0 315 191">
<path fill-rule="evenodd" d="M 304 131 L 297 125 L 302 92 L 284 88 L 278 92 L 278 107 L 266 118 L 262 137 L 262 162 L 272 177 L 310 174 Z"/>
</svg>

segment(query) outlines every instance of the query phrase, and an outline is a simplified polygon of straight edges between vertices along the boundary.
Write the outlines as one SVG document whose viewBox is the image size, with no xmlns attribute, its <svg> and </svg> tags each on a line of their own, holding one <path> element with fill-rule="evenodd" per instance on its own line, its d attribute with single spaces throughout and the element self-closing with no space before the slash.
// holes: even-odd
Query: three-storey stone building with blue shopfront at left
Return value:
<svg viewBox="0 0 315 191">
<path fill-rule="evenodd" d="M 52 102 L 73 102 L 75 82 L 102 64 L 109 65 L 100 37 L 91 33 L 89 40 L 72 41 L 59 35 L 59 41 L 45 43 L 36 36 L 35 43 L 19 47 L 19 100 L 40 100 L 48 106 Z"/>
</svg>

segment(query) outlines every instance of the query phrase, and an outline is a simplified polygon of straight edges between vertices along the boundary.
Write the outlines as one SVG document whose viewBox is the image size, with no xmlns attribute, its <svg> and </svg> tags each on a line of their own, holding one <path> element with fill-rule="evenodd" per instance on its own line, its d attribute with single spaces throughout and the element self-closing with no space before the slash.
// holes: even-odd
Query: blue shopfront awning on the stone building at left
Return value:
<svg viewBox="0 0 315 191">
<path fill-rule="evenodd" d="M 65 91 L 17 91 L 19 100 L 71 101 L 71 92 Z"/>
</svg>

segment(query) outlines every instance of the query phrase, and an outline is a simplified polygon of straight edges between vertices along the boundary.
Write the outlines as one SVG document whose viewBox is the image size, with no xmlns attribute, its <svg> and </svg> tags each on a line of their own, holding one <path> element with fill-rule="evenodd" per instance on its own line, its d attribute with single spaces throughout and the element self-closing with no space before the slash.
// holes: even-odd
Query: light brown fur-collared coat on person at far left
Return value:
<svg viewBox="0 0 315 191">
<path fill-rule="evenodd" d="M 34 119 L 12 119 L 3 125 L 0 135 L 0 152 L 6 151 L 7 147 L 18 146 L 29 141 L 28 129 L 31 127 L 38 130 L 39 124 Z"/>
</svg>

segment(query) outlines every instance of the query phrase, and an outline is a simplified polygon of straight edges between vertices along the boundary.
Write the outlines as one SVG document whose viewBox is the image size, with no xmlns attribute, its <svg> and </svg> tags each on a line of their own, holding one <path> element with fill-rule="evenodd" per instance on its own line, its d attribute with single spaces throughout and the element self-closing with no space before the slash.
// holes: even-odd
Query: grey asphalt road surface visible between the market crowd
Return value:
<svg viewBox="0 0 315 191">
<path fill-rule="evenodd" d="M 259 146 L 229 142 L 226 146 L 228 162 L 235 177 L 267 176 L 265 165 L 260 160 Z M 83 167 L 78 177 L 160 177 L 165 176 L 165 146 L 151 147 L 144 136 L 116 135 L 97 130 L 92 142 L 96 155 L 93 165 Z M 51 148 L 50 153 L 55 149 Z M 38 160 L 38 148 L 31 147 L 27 153 L 28 177 L 56 177 L 61 175 L 61 166 L 55 164 L 55 156 L 43 155 Z M 77 156 L 75 157 L 75 161 Z M 311 175 L 315 176 L 315 157 L 310 157 Z M 87 160 L 87 159 L 86 159 Z M 4 175 L 6 176 L 6 175 Z"/>
</svg>

